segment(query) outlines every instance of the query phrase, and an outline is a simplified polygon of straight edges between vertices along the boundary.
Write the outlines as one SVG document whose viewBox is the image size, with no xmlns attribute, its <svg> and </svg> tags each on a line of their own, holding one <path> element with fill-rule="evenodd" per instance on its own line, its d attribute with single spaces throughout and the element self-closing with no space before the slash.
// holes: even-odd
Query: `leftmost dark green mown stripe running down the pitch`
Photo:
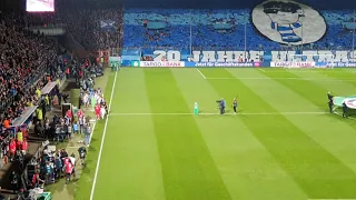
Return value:
<svg viewBox="0 0 356 200">
<path fill-rule="evenodd" d="M 151 112 L 190 109 L 169 69 L 145 69 Z M 154 116 L 154 126 L 168 200 L 229 200 L 230 196 L 204 142 L 187 116 Z"/>
</svg>

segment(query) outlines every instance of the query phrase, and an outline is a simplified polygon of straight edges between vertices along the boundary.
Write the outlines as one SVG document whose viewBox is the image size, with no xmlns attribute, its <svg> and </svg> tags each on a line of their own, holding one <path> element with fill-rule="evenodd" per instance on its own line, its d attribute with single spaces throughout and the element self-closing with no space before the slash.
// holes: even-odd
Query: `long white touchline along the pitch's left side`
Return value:
<svg viewBox="0 0 356 200">
<path fill-rule="evenodd" d="M 115 72 L 115 78 L 113 78 L 113 86 L 112 86 L 112 89 L 111 89 L 110 103 L 109 103 L 109 108 L 108 108 L 108 116 L 107 116 L 107 119 L 106 119 L 105 126 L 103 126 L 103 132 L 102 132 L 102 139 L 101 139 L 101 143 L 100 143 L 98 163 L 97 163 L 97 168 L 96 168 L 96 173 L 93 176 L 93 182 L 92 182 L 91 192 L 90 192 L 90 200 L 93 199 L 93 192 L 96 190 L 96 183 L 97 183 L 97 178 L 98 178 L 98 172 L 99 172 L 99 167 L 100 167 L 100 159 L 101 159 L 105 137 L 106 137 L 106 133 L 107 133 L 107 127 L 108 127 L 108 121 L 109 121 L 109 116 L 110 116 L 110 109 L 111 109 L 111 103 L 112 103 L 112 98 L 113 98 L 113 91 L 115 91 L 117 76 L 118 76 L 118 72 L 116 71 Z"/>
</svg>

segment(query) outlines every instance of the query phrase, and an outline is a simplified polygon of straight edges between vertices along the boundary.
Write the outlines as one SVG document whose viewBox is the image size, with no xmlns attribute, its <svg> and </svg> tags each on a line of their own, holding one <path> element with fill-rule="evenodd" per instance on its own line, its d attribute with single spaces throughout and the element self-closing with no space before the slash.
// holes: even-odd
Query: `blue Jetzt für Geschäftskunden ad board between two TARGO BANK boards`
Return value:
<svg viewBox="0 0 356 200">
<path fill-rule="evenodd" d="M 263 68 L 270 67 L 269 62 L 186 62 L 186 68 Z"/>
</svg>

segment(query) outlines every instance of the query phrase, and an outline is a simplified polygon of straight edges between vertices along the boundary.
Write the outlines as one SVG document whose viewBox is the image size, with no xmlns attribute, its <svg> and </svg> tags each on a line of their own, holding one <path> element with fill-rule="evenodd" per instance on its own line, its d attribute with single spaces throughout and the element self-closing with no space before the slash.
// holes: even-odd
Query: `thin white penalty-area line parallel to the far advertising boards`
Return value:
<svg viewBox="0 0 356 200">
<path fill-rule="evenodd" d="M 325 78 L 296 78 L 296 77 L 290 77 L 290 78 L 246 78 L 246 77 L 231 77 L 231 78 L 206 78 L 207 80 L 317 80 L 317 81 L 326 81 L 326 82 L 340 82 L 340 81 L 356 81 L 355 79 L 325 79 Z"/>
</svg>

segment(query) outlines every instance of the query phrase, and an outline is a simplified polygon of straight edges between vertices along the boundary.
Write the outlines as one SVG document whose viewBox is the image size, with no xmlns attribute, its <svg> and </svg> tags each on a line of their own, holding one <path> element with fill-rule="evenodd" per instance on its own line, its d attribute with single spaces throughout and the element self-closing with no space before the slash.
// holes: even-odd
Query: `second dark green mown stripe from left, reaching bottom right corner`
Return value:
<svg viewBox="0 0 356 200">
<path fill-rule="evenodd" d="M 205 73 L 205 70 L 202 72 Z M 234 76 L 226 71 L 225 77 Z M 247 104 L 244 104 L 244 110 L 261 108 L 276 111 L 248 86 L 239 80 L 228 81 L 227 84 L 233 84 L 241 91 L 241 97 L 249 98 Z M 221 87 L 220 82 L 209 82 L 222 97 L 231 96 L 231 91 Z M 356 186 L 355 173 L 288 119 L 283 116 L 269 119 L 256 116 L 254 119 L 246 117 L 243 120 L 309 198 L 356 196 L 354 187 L 350 187 Z"/>
</svg>

